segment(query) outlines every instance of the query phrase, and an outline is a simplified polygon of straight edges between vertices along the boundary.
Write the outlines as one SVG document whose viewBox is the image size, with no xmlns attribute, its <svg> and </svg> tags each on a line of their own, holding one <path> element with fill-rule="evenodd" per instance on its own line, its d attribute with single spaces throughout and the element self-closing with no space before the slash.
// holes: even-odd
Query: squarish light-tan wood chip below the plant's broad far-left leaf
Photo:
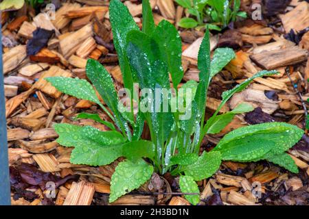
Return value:
<svg viewBox="0 0 309 219">
<path fill-rule="evenodd" d="M 36 164 L 41 168 L 43 172 L 58 172 L 60 168 L 58 168 L 57 159 L 54 155 L 50 153 L 41 153 L 37 155 L 32 155 L 33 159 L 36 161 Z"/>
</svg>

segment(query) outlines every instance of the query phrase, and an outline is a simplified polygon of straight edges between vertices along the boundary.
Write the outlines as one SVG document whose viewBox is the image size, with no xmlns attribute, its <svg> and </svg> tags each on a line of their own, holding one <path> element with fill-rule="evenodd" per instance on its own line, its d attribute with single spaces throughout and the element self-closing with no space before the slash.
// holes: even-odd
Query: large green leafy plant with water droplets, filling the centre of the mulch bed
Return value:
<svg viewBox="0 0 309 219">
<path fill-rule="evenodd" d="M 242 103 L 231 112 L 218 115 L 225 103 L 235 94 L 244 90 L 253 79 L 273 75 L 276 71 L 263 70 L 252 78 L 240 83 L 232 90 L 222 94 L 222 103 L 211 118 L 205 120 L 207 90 L 211 78 L 222 70 L 234 57 L 232 49 L 217 49 L 211 60 L 209 31 L 198 53 L 199 83 L 187 81 L 176 89 L 176 96 L 185 96 L 185 107 L 174 103 L 173 95 L 168 95 L 168 112 L 161 112 L 166 104 L 159 98 L 158 105 L 149 104 L 149 96 L 135 93 L 134 83 L 139 83 L 141 90 L 148 90 L 156 98 L 163 93 L 157 88 L 170 89 L 179 87 L 183 78 L 181 65 L 181 39 L 175 27 L 168 21 L 161 21 L 156 27 L 148 0 L 143 1 L 143 28 L 141 31 L 128 12 L 128 8 L 119 0 L 110 3 L 110 19 L 113 40 L 119 65 L 122 70 L 124 87 L 128 90 L 130 103 L 126 107 L 119 104 L 119 97 L 114 88 L 113 79 L 106 69 L 95 60 L 87 61 L 87 77 L 104 99 L 99 101 L 91 83 L 84 79 L 67 77 L 45 78 L 52 85 L 66 94 L 97 103 L 111 118 L 104 121 L 98 114 L 79 114 L 74 119 L 90 118 L 109 127 L 111 131 L 100 131 L 90 126 L 56 124 L 54 129 L 59 135 L 57 142 L 62 146 L 73 146 L 71 162 L 103 166 L 111 164 L 118 157 L 125 157 L 120 162 L 111 178 L 110 202 L 113 202 L 132 190 L 146 183 L 153 171 L 164 174 L 180 175 L 181 191 L 186 198 L 196 205 L 199 201 L 198 185 L 201 181 L 214 175 L 222 160 L 253 162 L 267 159 L 284 168 L 297 172 L 297 166 L 284 152 L 293 146 L 304 131 L 286 123 L 268 123 L 243 127 L 228 133 L 213 151 L 204 151 L 200 155 L 201 142 L 207 133 L 218 133 L 233 119 L 236 114 L 250 112 L 251 105 Z M 191 97 L 191 98 L 190 98 Z M 156 99 L 157 100 L 157 99 Z M 139 111 L 135 112 L 133 102 L 138 103 Z M 150 111 L 141 110 L 149 106 Z M 123 110 L 126 108 L 128 110 Z M 185 115 L 187 118 L 183 119 Z M 142 140 L 144 123 L 148 126 L 151 140 Z M 205 123 L 206 122 L 206 123 Z M 114 125 L 115 124 L 115 125 Z"/>
</svg>

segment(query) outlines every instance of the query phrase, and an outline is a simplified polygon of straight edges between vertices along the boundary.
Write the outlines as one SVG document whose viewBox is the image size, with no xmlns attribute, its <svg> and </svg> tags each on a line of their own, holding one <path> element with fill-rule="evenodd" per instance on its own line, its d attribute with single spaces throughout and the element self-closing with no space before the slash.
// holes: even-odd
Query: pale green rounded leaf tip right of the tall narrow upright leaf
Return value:
<svg viewBox="0 0 309 219">
<path fill-rule="evenodd" d="M 210 77 L 218 74 L 231 60 L 236 57 L 235 52 L 231 48 L 218 48 L 214 51 L 214 57 L 211 60 Z"/>
</svg>

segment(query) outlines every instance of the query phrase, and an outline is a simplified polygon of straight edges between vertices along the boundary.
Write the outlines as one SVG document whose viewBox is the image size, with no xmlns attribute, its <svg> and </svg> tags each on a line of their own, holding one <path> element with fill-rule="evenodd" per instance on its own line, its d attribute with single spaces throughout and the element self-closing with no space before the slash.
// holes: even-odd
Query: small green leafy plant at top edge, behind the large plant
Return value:
<svg viewBox="0 0 309 219">
<path fill-rule="evenodd" d="M 240 0 L 175 0 L 187 9 L 192 17 L 181 18 L 179 27 L 201 29 L 208 27 L 220 31 L 235 22 L 237 17 L 246 18 L 246 12 L 240 12 Z M 205 24 L 205 22 L 207 24 Z"/>
</svg>

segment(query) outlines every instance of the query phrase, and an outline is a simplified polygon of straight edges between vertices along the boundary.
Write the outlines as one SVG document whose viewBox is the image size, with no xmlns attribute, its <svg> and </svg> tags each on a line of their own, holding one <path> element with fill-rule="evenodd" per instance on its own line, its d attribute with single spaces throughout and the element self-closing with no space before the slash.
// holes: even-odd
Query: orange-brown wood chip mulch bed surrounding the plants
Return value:
<svg viewBox="0 0 309 219">
<path fill-rule="evenodd" d="M 3 12 L 1 23 L 5 107 L 8 127 L 10 178 L 13 205 L 108 205 L 109 182 L 118 162 L 108 166 L 84 166 L 69 162 L 70 148 L 56 143 L 54 123 L 107 127 L 93 120 L 72 120 L 80 112 L 99 113 L 98 106 L 62 94 L 44 77 L 64 76 L 86 79 L 88 58 L 99 60 L 122 88 L 122 76 L 113 47 L 108 18 L 108 1 L 55 1 L 56 20 L 49 21 L 44 10 L 23 7 Z M 172 0 L 150 0 L 155 22 L 163 18 L 176 24 L 185 16 Z M 250 12 L 251 3 L 242 1 Z M 218 135 L 205 136 L 203 150 L 211 150 L 229 131 L 247 124 L 284 121 L 305 129 L 309 98 L 309 3 L 282 1 L 282 8 L 264 5 L 268 16 L 262 21 L 242 21 L 234 29 L 211 36 L 211 49 L 232 47 L 233 60 L 214 77 L 209 88 L 207 114 L 216 110 L 220 95 L 262 69 L 277 69 L 279 75 L 255 79 L 247 90 L 235 94 L 222 108 L 229 112 L 240 102 L 255 110 L 238 115 Z M 141 26 L 141 1 L 125 1 Z M 288 5 L 286 7 L 286 5 Z M 179 28 L 183 40 L 183 82 L 198 80 L 196 59 L 203 31 Z M 308 32 L 307 32 L 308 31 Z M 28 45 L 27 45 L 28 44 Z M 149 138 L 147 133 L 144 138 Z M 210 179 L 200 181 L 200 205 L 307 205 L 309 202 L 309 137 L 288 151 L 299 166 L 292 174 L 268 162 L 240 164 L 223 162 Z M 55 198 L 46 188 L 56 182 Z M 253 183 L 255 182 L 255 183 Z M 259 182 L 259 183 L 256 183 Z M 260 186 L 260 198 L 253 185 Z M 155 193 L 154 193 L 155 192 Z M 171 175 L 153 175 L 147 185 L 119 198 L 113 205 L 189 205 L 177 194 L 179 185 Z"/>
</svg>

